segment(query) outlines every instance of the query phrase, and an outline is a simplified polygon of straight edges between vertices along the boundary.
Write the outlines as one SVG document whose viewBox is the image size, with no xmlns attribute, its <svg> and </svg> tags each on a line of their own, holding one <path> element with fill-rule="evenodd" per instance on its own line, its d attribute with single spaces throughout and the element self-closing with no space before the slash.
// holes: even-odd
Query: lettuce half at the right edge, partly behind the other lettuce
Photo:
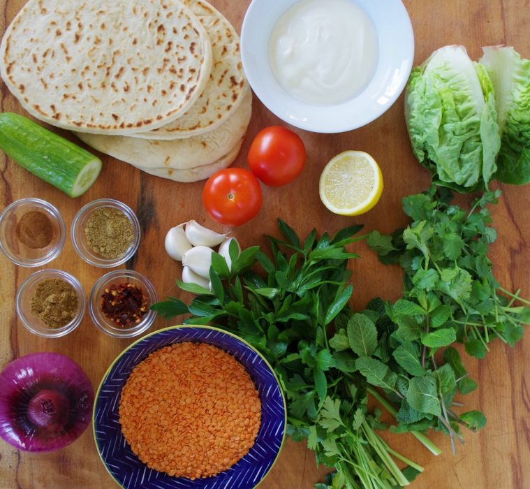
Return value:
<svg viewBox="0 0 530 489">
<path fill-rule="evenodd" d="M 494 177 L 509 184 L 530 182 L 530 61 L 511 47 L 483 48 L 485 66 L 495 88 L 501 151 Z"/>
</svg>

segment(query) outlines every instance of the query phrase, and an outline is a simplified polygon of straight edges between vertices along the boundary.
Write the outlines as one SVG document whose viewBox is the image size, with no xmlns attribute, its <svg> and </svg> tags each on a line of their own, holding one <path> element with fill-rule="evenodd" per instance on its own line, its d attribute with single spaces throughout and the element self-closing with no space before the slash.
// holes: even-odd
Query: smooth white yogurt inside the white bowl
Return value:
<svg viewBox="0 0 530 489">
<path fill-rule="evenodd" d="M 351 0 L 295 3 L 274 25 L 268 48 L 274 77 L 307 103 L 348 101 L 376 71 L 376 29 Z"/>
</svg>

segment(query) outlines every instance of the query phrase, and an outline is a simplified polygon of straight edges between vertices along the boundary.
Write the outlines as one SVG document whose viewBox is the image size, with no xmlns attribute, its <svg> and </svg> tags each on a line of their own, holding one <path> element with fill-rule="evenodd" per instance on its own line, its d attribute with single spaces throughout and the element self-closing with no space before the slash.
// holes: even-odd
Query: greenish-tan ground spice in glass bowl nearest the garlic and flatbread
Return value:
<svg viewBox="0 0 530 489">
<path fill-rule="evenodd" d="M 114 207 L 99 207 L 92 212 L 84 234 L 92 251 L 109 260 L 124 256 L 134 238 L 131 221 Z"/>
</svg>

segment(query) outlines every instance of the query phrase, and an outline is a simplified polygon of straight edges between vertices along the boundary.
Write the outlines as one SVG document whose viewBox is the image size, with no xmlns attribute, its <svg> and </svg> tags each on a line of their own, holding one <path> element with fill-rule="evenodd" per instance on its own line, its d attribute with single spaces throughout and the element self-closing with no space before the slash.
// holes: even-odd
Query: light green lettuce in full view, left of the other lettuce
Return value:
<svg viewBox="0 0 530 489">
<path fill-rule="evenodd" d="M 459 191 L 487 188 L 500 147 L 494 89 L 463 46 L 436 50 L 414 68 L 405 115 L 413 152 L 436 183 Z"/>
</svg>

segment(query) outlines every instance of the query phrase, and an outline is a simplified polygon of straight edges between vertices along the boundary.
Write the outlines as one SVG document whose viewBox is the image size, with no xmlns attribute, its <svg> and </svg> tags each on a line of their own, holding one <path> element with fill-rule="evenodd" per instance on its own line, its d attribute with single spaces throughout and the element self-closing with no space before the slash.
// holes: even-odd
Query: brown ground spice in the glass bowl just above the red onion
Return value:
<svg viewBox="0 0 530 489">
<path fill-rule="evenodd" d="M 46 279 L 37 284 L 30 307 L 48 328 L 61 328 L 78 314 L 78 294 L 66 280 Z"/>
</svg>

